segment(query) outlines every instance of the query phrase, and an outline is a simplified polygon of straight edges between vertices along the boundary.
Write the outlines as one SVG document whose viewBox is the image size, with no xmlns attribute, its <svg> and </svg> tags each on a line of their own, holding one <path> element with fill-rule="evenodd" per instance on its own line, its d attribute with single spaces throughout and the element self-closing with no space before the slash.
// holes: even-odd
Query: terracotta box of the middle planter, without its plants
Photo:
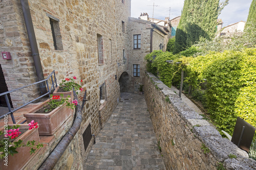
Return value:
<svg viewBox="0 0 256 170">
<path fill-rule="evenodd" d="M 35 113 L 37 110 L 48 105 L 50 99 L 43 102 L 41 105 L 31 109 L 29 113 L 24 113 L 27 122 L 34 120 L 40 126 L 38 129 L 39 135 L 53 135 L 59 127 L 71 116 L 73 109 L 66 107 L 66 103 L 52 110 L 50 113 Z M 71 98 L 69 98 L 71 103 Z"/>
</svg>

